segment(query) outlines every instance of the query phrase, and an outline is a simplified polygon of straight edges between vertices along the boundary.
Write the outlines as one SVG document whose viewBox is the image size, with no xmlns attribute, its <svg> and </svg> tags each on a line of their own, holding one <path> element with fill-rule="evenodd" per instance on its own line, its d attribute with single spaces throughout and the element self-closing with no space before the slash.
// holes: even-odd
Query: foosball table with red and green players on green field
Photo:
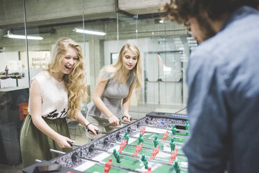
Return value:
<svg viewBox="0 0 259 173">
<path fill-rule="evenodd" d="M 45 164 L 57 163 L 65 172 L 187 172 L 182 146 L 188 135 L 185 114 L 150 112 Z"/>
</svg>

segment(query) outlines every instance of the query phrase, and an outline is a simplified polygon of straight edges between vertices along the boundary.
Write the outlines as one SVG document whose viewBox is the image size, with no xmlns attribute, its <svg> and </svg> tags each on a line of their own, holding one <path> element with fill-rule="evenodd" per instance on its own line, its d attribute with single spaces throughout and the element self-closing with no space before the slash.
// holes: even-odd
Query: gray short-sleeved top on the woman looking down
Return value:
<svg viewBox="0 0 259 173">
<path fill-rule="evenodd" d="M 101 77 L 108 79 L 111 73 L 100 73 Z M 130 85 L 134 83 L 135 75 L 130 73 L 129 80 L 125 84 L 120 84 L 118 80 L 109 79 L 107 85 L 104 88 L 101 99 L 104 105 L 119 119 L 123 116 L 123 108 L 121 101 L 126 98 L 130 91 Z M 100 118 L 108 119 L 96 106 L 93 101 L 87 105 L 88 114 L 99 116 Z"/>
</svg>

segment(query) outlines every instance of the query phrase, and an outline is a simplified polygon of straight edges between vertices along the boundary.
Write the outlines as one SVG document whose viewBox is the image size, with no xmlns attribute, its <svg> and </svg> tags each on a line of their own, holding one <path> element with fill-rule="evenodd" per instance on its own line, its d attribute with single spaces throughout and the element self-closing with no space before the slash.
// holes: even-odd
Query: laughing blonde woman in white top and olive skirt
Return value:
<svg viewBox="0 0 259 173">
<path fill-rule="evenodd" d="M 65 116 L 86 126 L 92 135 L 97 127 L 81 114 L 80 103 L 86 99 L 86 69 L 81 46 L 70 38 L 56 41 L 52 61 L 46 70 L 31 80 L 29 115 L 24 120 L 20 141 L 22 164 L 28 167 L 36 159 L 57 157 L 49 149 L 72 149 Z"/>
</svg>

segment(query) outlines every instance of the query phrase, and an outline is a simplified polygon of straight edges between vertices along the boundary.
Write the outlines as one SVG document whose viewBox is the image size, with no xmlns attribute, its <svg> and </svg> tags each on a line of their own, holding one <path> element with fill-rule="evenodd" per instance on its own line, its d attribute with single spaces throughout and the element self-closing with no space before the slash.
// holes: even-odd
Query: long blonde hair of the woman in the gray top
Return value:
<svg viewBox="0 0 259 173">
<path fill-rule="evenodd" d="M 123 47 L 120 49 L 120 53 L 118 55 L 118 61 L 115 64 L 104 66 L 102 68 L 101 72 L 107 72 L 111 73 L 111 76 L 109 78 L 113 78 L 120 81 L 120 79 L 123 78 L 124 68 L 123 68 L 123 57 L 127 53 L 128 50 L 131 50 L 136 54 L 138 57 L 138 61 L 136 62 L 136 66 L 132 69 L 132 72 L 135 75 L 135 88 L 136 91 L 139 91 L 142 84 L 142 65 L 141 65 L 141 54 L 139 52 L 138 47 L 132 43 L 126 43 L 123 45 Z"/>
</svg>

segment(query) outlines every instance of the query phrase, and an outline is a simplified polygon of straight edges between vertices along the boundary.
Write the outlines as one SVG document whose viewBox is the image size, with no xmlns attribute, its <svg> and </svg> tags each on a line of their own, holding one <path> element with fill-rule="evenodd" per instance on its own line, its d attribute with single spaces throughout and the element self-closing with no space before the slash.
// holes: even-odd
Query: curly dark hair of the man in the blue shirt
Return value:
<svg viewBox="0 0 259 173">
<path fill-rule="evenodd" d="M 186 24 L 189 17 L 207 14 L 211 20 L 221 20 L 241 6 L 258 8 L 259 0 L 171 0 L 161 9 L 168 20 Z"/>
</svg>

